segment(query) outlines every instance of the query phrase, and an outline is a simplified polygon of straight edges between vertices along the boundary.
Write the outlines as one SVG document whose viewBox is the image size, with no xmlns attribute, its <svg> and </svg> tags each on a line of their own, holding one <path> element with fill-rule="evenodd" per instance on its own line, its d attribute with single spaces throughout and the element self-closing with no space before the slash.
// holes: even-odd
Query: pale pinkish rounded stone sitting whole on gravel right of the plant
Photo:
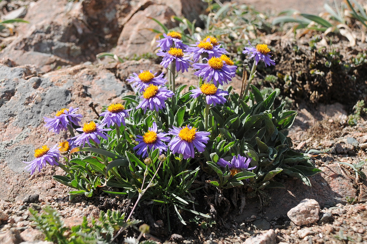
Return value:
<svg viewBox="0 0 367 244">
<path fill-rule="evenodd" d="M 307 225 L 319 220 L 320 206 L 314 199 L 305 199 L 288 211 L 287 216 L 296 225 Z"/>
</svg>

